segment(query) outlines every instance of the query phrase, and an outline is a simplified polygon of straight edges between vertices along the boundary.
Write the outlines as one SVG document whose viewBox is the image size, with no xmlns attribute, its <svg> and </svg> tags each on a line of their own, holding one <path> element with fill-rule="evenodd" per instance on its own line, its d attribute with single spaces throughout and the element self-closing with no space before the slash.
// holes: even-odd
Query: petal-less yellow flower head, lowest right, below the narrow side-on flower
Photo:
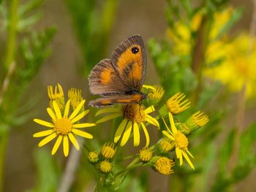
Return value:
<svg viewBox="0 0 256 192">
<path fill-rule="evenodd" d="M 154 169 L 161 174 L 171 174 L 173 173 L 174 162 L 167 157 L 155 157 Z"/>
</svg>

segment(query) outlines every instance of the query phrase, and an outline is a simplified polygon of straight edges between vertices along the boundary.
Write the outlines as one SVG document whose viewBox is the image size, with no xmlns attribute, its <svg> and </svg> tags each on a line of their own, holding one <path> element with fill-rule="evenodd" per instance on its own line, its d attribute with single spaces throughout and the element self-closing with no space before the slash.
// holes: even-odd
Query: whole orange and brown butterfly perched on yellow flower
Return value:
<svg viewBox="0 0 256 192">
<path fill-rule="evenodd" d="M 122 42 L 113 51 L 111 59 L 99 61 L 91 69 L 89 90 L 101 98 L 89 102 L 92 107 L 111 104 L 129 104 L 143 101 L 140 92 L 146 75 L 146 48 L 140 35 Z"/>
</svg>

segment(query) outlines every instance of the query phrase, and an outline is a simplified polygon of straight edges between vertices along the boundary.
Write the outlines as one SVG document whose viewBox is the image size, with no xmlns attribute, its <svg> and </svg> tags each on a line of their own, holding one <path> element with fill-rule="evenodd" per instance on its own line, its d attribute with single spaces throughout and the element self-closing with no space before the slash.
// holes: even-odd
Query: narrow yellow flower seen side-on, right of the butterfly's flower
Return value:
<svg viewBox="0 0 256 192">
<path fill-rule="evenodd" d="M 181 133 L 181 131 L 177 130 L 174 124 L 173 115 L 170 112 L 169 112 L 169 120 L 170 120 L 171 130 L 170 128 L 167 127 L 164 120 L 167 131 L 162 131 L 162 133 L 165 134 L 166 137 L 168 137 L 170 140 L 174 142 L 176 156 L 180 161 L 180 165 L 183 164 L 183 157 L 184 157 L 187 160 L 187 163 L 189 164 L 189 166 L 192 169 L 195 169 L 195 167 L 193 166 L 192 162 L 189 159 L 189 156 L 187 155 L 189 154 L 193 158 L 193 155 L 189 153 L 189 150 L 188 150 L 189 141 L 187 137 L 183 133 Z"/>
</svg>

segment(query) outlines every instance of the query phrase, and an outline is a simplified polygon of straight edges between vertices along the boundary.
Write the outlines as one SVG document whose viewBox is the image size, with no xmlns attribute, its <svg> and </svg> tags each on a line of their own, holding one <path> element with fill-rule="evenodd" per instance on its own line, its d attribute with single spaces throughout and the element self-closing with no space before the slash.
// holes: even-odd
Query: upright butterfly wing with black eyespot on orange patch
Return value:
<svg viewBox="0 0 256 192">
<path fill-rule="evenodd" d="M 146 49 L 140 35 L 122 42 L 112 54 L 111 64 L 129 91 L 140 91 L 146 76 Z"/>
</svg>

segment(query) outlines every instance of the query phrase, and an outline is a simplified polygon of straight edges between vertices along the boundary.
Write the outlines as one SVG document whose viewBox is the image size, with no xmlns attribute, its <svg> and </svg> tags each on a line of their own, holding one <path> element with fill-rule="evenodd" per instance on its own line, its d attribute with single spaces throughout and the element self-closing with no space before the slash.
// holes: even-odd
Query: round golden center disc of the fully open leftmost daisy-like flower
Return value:
<svg viewBox="0 0 256 192">
<path fill-rule="evenodd" d="M 73 124 L 71 120 L 69 120 L 68 118 L 60 118 L 56 120 L 54 130 L 58 134 L 69 134 L 72 127 L 73 127 Z"/>
</svg>

